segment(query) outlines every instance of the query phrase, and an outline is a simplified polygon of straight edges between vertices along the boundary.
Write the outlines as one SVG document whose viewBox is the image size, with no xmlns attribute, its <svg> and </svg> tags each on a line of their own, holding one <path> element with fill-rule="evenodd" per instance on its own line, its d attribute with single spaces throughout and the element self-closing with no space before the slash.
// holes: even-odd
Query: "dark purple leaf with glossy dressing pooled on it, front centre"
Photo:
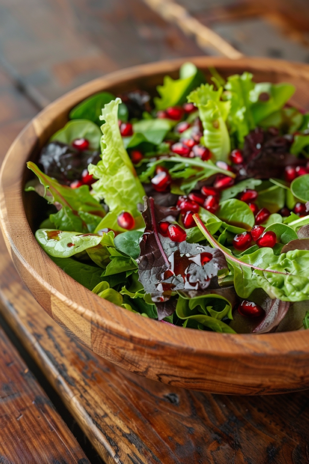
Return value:
<svg viewBox="0 0 309 464">
<path fill-rule="evenodd" d="M 176 243 L 163 237 L 159 233 L 158 223 L 173 221 L 178 212 L 156 205 L 152 198 L 147 198 L 145 206 L 142 214 L 146 227 L 139 244 L 137 263 L 139 282 L 146 293 L 151 294 L 154 302 L 162 303 L 169 300 L 172 291 L 208 288 L 218 271 L 227 269 L 223 253 L 210 246 Z"/>
</svg>

